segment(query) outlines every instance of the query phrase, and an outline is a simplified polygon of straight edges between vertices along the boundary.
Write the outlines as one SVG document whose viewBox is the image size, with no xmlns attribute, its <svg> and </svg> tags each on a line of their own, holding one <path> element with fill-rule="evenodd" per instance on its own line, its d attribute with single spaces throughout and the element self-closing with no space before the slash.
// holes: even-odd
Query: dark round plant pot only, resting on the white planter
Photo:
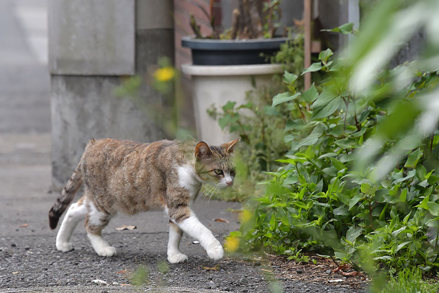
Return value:
<svg viewBox="0 0 439 293">
<path fill-rule="evenodd" d="M 181 45 L 192 49 L 194 65 L 263 64 L 269 63 L 265 56 L 276 54 L 287 39 L 211 40 L 186 36 Z"/>
</svg>

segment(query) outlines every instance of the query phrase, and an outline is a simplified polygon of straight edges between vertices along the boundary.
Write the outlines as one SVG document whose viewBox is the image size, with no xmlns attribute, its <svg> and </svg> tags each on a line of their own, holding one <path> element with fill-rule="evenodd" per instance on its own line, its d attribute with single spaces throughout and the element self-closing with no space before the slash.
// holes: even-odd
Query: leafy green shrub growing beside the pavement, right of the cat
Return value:
<svg viewBox="0 0 439 293">
<path fill-rule="evenodd" d="M 419 119 L 418 96 L 437 86 L 438 73 L 418 73 L 402 91 L 354 97 L 331 55 L 320 53 L 321 63 L 305 70 L 323 70 L 329 78 L 303 93 L 293 86 L 297 76 L 285 72 L 290 90 L 272 105 L 299 118 L 286 122 L 290 150 L 277 160 L 284 165 L 270 173 L 265 195 L 255 200 L 254 226 L 243 225 L 241 233 L 250 248 L 290 258 L 307 251 L 363 266 L 375 261 L 381 268 L 439 271 L 439 131 L 406 142 L 405 155 L 385 176 L 363 157 L 377 137 L 377 161 L 404 142 Z M 378 91 L 391 76 L 379 74 Z"/>
</svg>

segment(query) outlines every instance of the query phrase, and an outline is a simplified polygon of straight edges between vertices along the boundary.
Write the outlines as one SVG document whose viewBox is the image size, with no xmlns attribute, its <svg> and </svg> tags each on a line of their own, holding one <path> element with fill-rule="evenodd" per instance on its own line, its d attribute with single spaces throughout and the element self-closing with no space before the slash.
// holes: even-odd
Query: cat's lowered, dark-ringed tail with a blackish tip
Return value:
<svg viewBox="0 0 439 293">
<path fill-rule="evenodd" d="M 69 181 L 65 185 L 64 189 L 62 189 L 60 196 L 57 198 L 55 204 L 53 204 L 52 209 L 49 211 L 49 225 L 50 229 L 57 228 L 58 221 L 60 220 L 60 216 L 67 209 L 67 207 L 72 202 L 75 197 L 76 192 L 80 188 L 82 184 L 82 172 L 80 169 L 82 160 L 78 167 L 76 167 L 75 171 L 70 177 Z"/>
</svg>

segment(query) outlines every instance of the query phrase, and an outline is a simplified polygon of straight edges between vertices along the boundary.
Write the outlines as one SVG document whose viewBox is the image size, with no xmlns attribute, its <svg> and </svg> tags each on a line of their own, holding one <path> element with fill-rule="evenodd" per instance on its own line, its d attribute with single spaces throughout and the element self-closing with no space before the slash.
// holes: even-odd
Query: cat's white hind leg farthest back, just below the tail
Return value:
<svg viewBox="0 0 439 293">
<path fill-rule="evenodd" d="M 73 245 L 69 242 L 73 230 L 78 223 L 85 218 L 87 208 L 84 205 L 84 197 L 81 197 L 77 203 L 72 204 L 62 220 L 60 230 L 57 234 L 57 250 L 62 252 L 71 251 Z"/>
</svg>

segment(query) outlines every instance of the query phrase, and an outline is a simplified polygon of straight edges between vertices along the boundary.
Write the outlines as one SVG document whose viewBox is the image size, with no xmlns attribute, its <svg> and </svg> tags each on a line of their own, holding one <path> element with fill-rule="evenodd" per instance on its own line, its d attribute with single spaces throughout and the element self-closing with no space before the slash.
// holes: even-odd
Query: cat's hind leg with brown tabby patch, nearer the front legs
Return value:
<svg viewBox="0 0 439 293">
<path fill-rule="evenodd" d="M 116 255 L 116 249 L 108 244 L 102 237 L 102 229 L 110 222 L 111 214 L 100 211 L 91 201 L 87 202 L 87 214 L 85 216 L 85 231 L 90 239 L 93 249 L 100 256 Z"/>
</svg>

